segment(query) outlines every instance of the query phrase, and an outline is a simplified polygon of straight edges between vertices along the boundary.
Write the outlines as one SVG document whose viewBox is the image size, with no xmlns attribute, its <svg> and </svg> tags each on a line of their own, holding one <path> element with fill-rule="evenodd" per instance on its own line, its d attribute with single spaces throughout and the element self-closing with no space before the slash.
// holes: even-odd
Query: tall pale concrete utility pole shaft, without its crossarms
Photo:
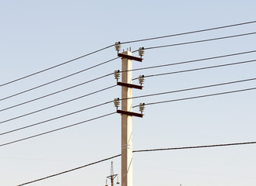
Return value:
<svg viewBox="0 0 256 186">
<path fill-rule="evenodd" d="M 122 54 L 132 56 L 132 52 Z M 122 58 L 122 83 L 132 84 L 132 60 Z M 132 112 L 132 88 L 121 88 L 121 110 Z M 132 115 L 121 115 L 121 185 L 132 186 Z"/>
</svg>

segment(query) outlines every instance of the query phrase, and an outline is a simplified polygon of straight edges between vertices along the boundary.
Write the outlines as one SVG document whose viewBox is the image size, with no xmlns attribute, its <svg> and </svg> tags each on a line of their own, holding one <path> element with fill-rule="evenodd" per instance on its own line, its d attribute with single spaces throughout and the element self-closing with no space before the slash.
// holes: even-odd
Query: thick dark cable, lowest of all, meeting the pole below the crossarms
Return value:
<svg viewBox="0 0 256 186">
<path fill-rule="evenodd" d="M 133 150 L 133 153 L 147 153 L 147 152 L 167 151 L 167 150 L 200 149 L 200 148 L 212 148 L 212 147 L 221 147 L 221 146 L 240 146 L 240 145 L 249 145 L 249 144 L 255 144 L 255 143 L 256 143 L 256 141 L 244 142 L 244 143 L 224 143 L 224 144 L 205 145 L 205 146 L 182 146 L 182 147 L 170 147 L 170 148 L 162 148 L 162 149 Z M 117 155 L 115 155 L 113 157 L 107 157 L 105 159 L 98 160 L 98 161 L 95 161 L 95 162 L 90 163 L 90 164 L 85 164 L 85 165 L 82 165 L 80 167 L 75 167 L 75 168 L 72 168 L 72 169 L 70 169 L 68 171 L 62 171 L 62 172 L 60 172 L 58 174 L 51 174 L 51 175 L 49 175 L 47 177 L 41 177 L 40 179 L 37 179 L 37 180 L 34 180 L 34 181 L 29 181 L 29 182 L 26 182 L 26 183 L 23 183 L 23 184 L 19 184 L 17 186 L 23 186 L 23 185 L 26 185 L 26 184 L 32 184 L 34 182 L 42 181 L 42 180 L 45 180 L 45 179 L 50 178 L 50 177 L 56 177 L 56 176 L 59 176 L 61 174 L 65 174 L 65 173 L 68 173 L 68 172 L 76 171 L 76 170 L 79 170 L 79 169 L 84 168 L 84 167 L 92 166 L 94 164 L 100 164 L 103 161 L 111 160 L 111 159 L 114 159 L 116 157 L 121 157 L 121 154 L 117 154 Z"/>
</svg>

